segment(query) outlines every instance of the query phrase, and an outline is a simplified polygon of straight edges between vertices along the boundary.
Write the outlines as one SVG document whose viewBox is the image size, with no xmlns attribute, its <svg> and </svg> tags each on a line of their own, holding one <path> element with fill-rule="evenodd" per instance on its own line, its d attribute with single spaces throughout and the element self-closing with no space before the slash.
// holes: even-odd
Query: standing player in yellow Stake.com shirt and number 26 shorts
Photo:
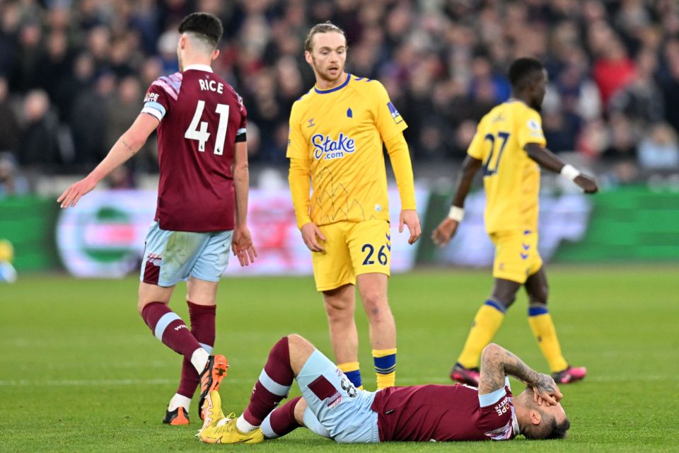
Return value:
<svg viewBox="0 0 679 453">
<path fill-rule="evenodd" d="M 396 327 L 387 300 L 391 231 L 383 143 L 401 198 L 399 232 L 407 226 L 410 244 L 422 234 L 402 134 L 407 125 L 379 81 L 344 71 L 347 40 L 340 28 L 315 25 L 305 50 L 316 84 L 292 107 L 287 149 L 297 225 L 311 250 L 340 369 L 361 387 L 354 321 L 358 285 L 382 389 L 394 385 L 396 369 Z"/>
</svg>

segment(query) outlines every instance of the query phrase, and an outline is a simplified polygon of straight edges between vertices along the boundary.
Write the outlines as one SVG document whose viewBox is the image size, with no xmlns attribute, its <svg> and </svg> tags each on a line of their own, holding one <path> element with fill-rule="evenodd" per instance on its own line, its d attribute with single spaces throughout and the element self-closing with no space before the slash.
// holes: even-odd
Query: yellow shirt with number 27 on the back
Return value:
<svg viewBox="0 0 679 453">
<path fill-rule="evenodd" d="M 467 153 L 483 162 L 488 233 L 538 227 L 540 168 L 528 143 L 547 144 L 540 114 L 521 101 L 497 105 L 478 125 Z"/>
</svg>

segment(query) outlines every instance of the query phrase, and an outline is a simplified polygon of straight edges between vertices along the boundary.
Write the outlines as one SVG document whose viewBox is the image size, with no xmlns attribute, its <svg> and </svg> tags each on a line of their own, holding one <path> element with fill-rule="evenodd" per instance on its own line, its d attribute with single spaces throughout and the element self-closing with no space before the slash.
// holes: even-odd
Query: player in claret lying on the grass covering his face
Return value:
<svg viewBox="0 0 679 453">
<path fill-rule="evenodd" d="M 509 378 L 526 383 L 512 396 Z M 302 396 L 281 407 L 293 379 Z M 337 442 L 510 440 L 566 436 L 569 420 L 554 379 L 491 343 L 483 350 L 479 387 L 426 384 L 381 391 L 356 389 L 308 340 L 278 341 L 240 417 L 225 417 L 218 391 L 202 408 L 198 432 L 207 443 L 257 443 L 301 426 Z"/>
</svg>

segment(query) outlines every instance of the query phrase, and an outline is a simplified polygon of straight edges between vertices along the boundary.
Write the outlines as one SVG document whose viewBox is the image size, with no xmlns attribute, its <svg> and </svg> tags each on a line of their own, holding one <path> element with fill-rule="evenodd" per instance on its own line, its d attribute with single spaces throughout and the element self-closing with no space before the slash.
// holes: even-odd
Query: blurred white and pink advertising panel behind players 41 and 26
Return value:
<svg viewBox="0 0 679 453">
<path fill-rule="evenodd" d="M 426 208 L 429 193 L 416 190 L 417 205 Z M 389 190 L 394 273 L 410 270 L 417 248 L 408 246 L 407 231 L 398 234 L 400 200 Z M 156 209 L 156 192 L 95 191 L 74 209 L 63 210 L 57 224 L 57 246 L 64 267 L 79 277 L 122 277 L 139 271 L 144 239 Z M 231 258 L 227 275 L 311 274 L 311 256 L 296 226 L 289 193 L 250 190 L 248 226 L 259 256 L 241 268 Z"/>
</svg>

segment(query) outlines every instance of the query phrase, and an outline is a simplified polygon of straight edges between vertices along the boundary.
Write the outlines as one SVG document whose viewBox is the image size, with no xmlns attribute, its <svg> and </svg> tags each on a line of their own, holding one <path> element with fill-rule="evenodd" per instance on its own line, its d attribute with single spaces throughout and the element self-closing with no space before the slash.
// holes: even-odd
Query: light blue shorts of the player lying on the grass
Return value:
<svg viewBox="0 0 679 453">
<path fill-rule="evenodd" d="M 304 425 L 337 442 L 379 442 L 377 413 L 371 409 L 375 392 L 358 390 L 337 365 L 315 350 L 297 383 L 308 408 Z"/>
</svg>

